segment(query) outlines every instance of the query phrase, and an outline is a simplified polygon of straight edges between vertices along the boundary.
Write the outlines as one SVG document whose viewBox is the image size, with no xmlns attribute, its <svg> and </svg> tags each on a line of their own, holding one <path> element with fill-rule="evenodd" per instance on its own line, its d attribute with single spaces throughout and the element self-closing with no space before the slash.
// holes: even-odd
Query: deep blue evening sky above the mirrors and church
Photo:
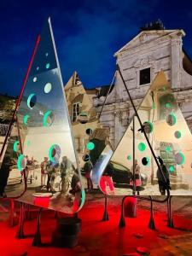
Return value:
<svg viewBox="0 0 192 256">
<path fill-rule="evenodd" d="M 0 93 L 18 95 L 35 39 L 51 17 L 64 82 L 76 70 L 86 88 L 110 84 L 113 53 L 157 20 L 183 28 L 192 55 L 192 1 L 62 0 L 0 1 Z"/>
</svg>

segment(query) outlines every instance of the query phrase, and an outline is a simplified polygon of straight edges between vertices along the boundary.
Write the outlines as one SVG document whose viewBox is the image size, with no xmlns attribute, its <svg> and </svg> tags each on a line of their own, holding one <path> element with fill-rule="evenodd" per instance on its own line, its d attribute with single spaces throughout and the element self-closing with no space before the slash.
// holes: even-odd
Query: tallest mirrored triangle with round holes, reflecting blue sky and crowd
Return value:
<svg viewBox="0 0 192 256">
<path fill-rule="evenodd" d="M 50 209 L 72 213 L 83 206 L 84 189 L 58 65 L 49 21 L 40 36 L 17 112 L 20 136 L 12 134 L 11 144 L 9 141 L 14 163 L 9 165 L 5 191 L 9 197 L 19 196 L 25 172 L 27 189 L 20 201 L 38 206 L 46 201 Z"/>
</svg>

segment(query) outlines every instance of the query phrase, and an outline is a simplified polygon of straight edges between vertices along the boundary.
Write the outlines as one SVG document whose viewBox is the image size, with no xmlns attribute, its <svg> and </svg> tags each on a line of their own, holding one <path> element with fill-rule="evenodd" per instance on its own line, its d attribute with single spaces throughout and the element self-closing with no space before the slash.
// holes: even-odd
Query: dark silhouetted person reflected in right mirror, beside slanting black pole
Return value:
<svg viewBox="0 0 192 256">
<path fill-rule="evenodd" d="M 159 190 L 160 190 L 160 195 L 166 195 L 166 189 L 171 189 L 170 188 L 170 180 L 169 180 L 169 172 L 166 169 L 166 165 L 164 165 L 163 160 L 158 157 L 159 163 L 160 163 L 160 169 L 158 168 L 157 170 L 157 179 L 158 179 L 158 183 L 159 183 Z M 164 176 L 163 176 L 164 175 Z M 165 178 L 166 180 L 165 180 Z"/>
</svg>

